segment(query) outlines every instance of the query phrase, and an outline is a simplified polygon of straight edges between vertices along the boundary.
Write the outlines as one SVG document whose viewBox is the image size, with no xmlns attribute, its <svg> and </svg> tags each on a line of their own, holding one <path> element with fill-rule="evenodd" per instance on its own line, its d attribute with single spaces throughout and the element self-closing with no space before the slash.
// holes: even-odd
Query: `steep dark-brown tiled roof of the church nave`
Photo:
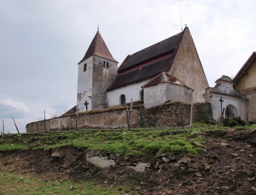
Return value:
<svg viewBox="0 0 256 195">
<path fill-rule="evenodd" d="M 119 74 L 116 80 L 107 91 L 153 78 L 163 71 L 170 70 L 183 34 L 187 29 L 185 27 L 184 31 L 179 34 L 128 55 L 118 69 Z"/>
</svg>

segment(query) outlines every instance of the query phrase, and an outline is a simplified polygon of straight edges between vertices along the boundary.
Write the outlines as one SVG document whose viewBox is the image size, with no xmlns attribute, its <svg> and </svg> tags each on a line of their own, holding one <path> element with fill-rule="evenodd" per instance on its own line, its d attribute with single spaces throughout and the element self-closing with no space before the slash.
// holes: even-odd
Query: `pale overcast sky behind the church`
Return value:
<svg viewBox="0 0 256 195">
<path fill-rule="evenodd" d="M 181 7 L 181 15 L 180 15 Z M 0 131 L 76 104 L 77 63 L 99 32 L 112 56 L 162 41 L 187 24 L 208 83 L 235 76 L 256 50 L 255 0 L 0 0 Z M 182 18 L 182 24 L 181 24 Z"/>
</svg>

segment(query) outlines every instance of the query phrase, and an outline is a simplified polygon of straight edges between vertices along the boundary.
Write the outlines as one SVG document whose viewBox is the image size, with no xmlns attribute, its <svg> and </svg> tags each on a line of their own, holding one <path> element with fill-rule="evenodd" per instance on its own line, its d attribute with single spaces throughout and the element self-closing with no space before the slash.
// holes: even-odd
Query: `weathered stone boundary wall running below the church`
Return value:
<svg viewBox="0 0 256 195">
<path fill-rule="evenodd" d="M 144 109 L 144 106 L 134 106 L 131 114 L 131 127 L 162 128 L 182 126 L 190 123 L 191 104 L 181 102 L 164 103 L 160 106 Z M 192 121 L 212 120 L 210 103 L 193 104 Z M 127 127 L 126 108 L 102 110 L 78 115 L 78 129 L 123 128 Z M 38 128 L 39 126 L 39 128 Z M 76 127 L 76 115 L 63 116 L 46 120 L 46 131 L 70 130 Z M 26 125 L 27 133 L 44 132 L 44 121 Z"/>
</svg>

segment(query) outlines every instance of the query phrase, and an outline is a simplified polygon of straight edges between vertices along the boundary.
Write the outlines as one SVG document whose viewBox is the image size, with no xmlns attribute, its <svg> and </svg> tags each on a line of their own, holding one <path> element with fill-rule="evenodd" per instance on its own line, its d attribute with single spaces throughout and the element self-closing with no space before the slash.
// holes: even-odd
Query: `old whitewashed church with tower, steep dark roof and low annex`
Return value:
<svg viewBox="0 0 256 195">
<path fill-rule="evenodd" d="M 77 112 L 143 101 L 203 103 L 208 82 L 188 27 L 118 67 L 99 31 L 78 63 Z"/>
</svg>

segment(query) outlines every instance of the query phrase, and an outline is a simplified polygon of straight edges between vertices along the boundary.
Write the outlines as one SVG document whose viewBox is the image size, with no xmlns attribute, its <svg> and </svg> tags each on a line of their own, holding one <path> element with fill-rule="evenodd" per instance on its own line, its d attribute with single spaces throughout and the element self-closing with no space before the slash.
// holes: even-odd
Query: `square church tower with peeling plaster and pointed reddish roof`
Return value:
<svg viewBox="0 0 256 195">
<path fill-rule="evenodd" d="M 97 31 L 85 56 L 78 63 L 78 113 L 106 108 L 107 88 L 117 76 L 118 62 Z"/>
</svg>

